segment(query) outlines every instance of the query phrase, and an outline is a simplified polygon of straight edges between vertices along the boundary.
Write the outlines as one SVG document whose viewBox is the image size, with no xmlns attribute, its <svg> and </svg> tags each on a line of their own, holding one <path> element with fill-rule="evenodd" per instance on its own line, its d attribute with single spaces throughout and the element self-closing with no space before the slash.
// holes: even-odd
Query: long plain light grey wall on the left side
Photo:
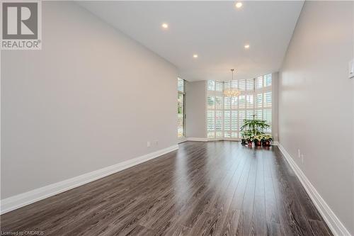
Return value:
<svg viewBox="0 0 354 236">
<path fill-rule="evenodd" d="M 42 50 L 1 53 L 1 199 L 176 145 L 176 83 L 81 6 L 43 1 Z"/>
</svg>

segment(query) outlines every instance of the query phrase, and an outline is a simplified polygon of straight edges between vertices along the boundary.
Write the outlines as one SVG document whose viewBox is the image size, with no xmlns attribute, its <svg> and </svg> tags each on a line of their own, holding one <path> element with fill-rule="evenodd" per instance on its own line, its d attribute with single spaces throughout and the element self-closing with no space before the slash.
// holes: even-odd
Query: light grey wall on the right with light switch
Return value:
<svg viewBox="0 0 354 236">
<path fill-rule="evenodd" d="M 285 150 L 354 235 L 353 5 L 305 2 L 280 73 L 279 131 Z"/>
</svg>

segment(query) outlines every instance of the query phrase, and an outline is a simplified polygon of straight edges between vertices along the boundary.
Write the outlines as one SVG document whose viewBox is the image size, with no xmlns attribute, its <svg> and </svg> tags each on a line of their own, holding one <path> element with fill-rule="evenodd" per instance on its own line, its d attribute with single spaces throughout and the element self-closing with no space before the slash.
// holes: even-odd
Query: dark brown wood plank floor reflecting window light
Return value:
<svg viewBox="0 0 354 236">
<path fill-rule="evenodd" d="M 278 147 L 184 142 L 149 162 L 1 215 L 44 235 L 331 235 Z"/>
</svg>

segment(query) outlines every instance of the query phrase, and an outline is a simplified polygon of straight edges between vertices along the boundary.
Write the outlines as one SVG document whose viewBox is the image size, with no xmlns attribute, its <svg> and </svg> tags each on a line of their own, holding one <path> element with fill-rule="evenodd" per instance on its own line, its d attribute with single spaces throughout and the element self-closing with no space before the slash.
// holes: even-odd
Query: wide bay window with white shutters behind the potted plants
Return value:
<svg viewBox="0 0 354 236">
<path fill-rule="evenodd" d="M 223 90 L 237 88 L 237 97 L 224 96 Z M 256 79 L 231 82 L 207 82 L 207 137 L 241 138 L 244 119 L 256 118 L 272 124 L 272 74 Z M 271 128 L 265 130 L 271 133 Z"/>
</svg>

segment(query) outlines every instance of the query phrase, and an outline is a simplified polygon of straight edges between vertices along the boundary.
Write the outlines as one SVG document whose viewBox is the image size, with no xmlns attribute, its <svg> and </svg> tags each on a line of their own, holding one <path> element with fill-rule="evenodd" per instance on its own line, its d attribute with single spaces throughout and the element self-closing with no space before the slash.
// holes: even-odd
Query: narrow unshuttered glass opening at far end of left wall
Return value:
<svg viewBox="0 0 354 236">
<path fill-rule="evenodd" d="M 178 78 L 177 81 L 177 135 L 178 137 L 185 137 L 185 82 L 183 79 Z"/>
</svg>

